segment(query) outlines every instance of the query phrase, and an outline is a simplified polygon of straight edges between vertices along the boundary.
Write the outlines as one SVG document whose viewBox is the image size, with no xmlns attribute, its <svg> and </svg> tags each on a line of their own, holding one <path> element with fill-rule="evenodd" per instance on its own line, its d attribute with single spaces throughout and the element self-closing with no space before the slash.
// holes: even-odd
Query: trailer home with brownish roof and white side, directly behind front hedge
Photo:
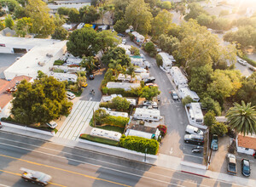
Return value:
<svg viewBox="0 0 256 187">
<path fill-rule="evenodd" d="M 157 127 L 130 124 L 130 127 L 125 132 L 125 136 L 138 136 L 145 139 L 158 139 L 160 136 L 160 130 Z"/>
</svg>

